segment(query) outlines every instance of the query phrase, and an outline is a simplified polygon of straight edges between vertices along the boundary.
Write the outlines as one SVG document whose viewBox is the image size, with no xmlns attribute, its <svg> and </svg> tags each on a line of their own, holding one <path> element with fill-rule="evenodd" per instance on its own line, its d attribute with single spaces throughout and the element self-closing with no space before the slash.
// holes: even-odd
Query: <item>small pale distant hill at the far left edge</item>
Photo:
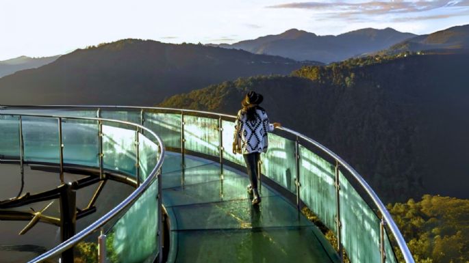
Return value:
<svg viewBox="0 0 469 263">
<path fill-rule="evenodd" d="M 19 70 L 39 68 L 40 66 L 44 66 L 55 61 L 55 59 L 58 59 L 58 57 L 60 57 L 60 55 L 53 57 L 21 56 L 14 59 L 0 61 L 0 78 L 9 74 L 13 74 Z"/>
</svg>

